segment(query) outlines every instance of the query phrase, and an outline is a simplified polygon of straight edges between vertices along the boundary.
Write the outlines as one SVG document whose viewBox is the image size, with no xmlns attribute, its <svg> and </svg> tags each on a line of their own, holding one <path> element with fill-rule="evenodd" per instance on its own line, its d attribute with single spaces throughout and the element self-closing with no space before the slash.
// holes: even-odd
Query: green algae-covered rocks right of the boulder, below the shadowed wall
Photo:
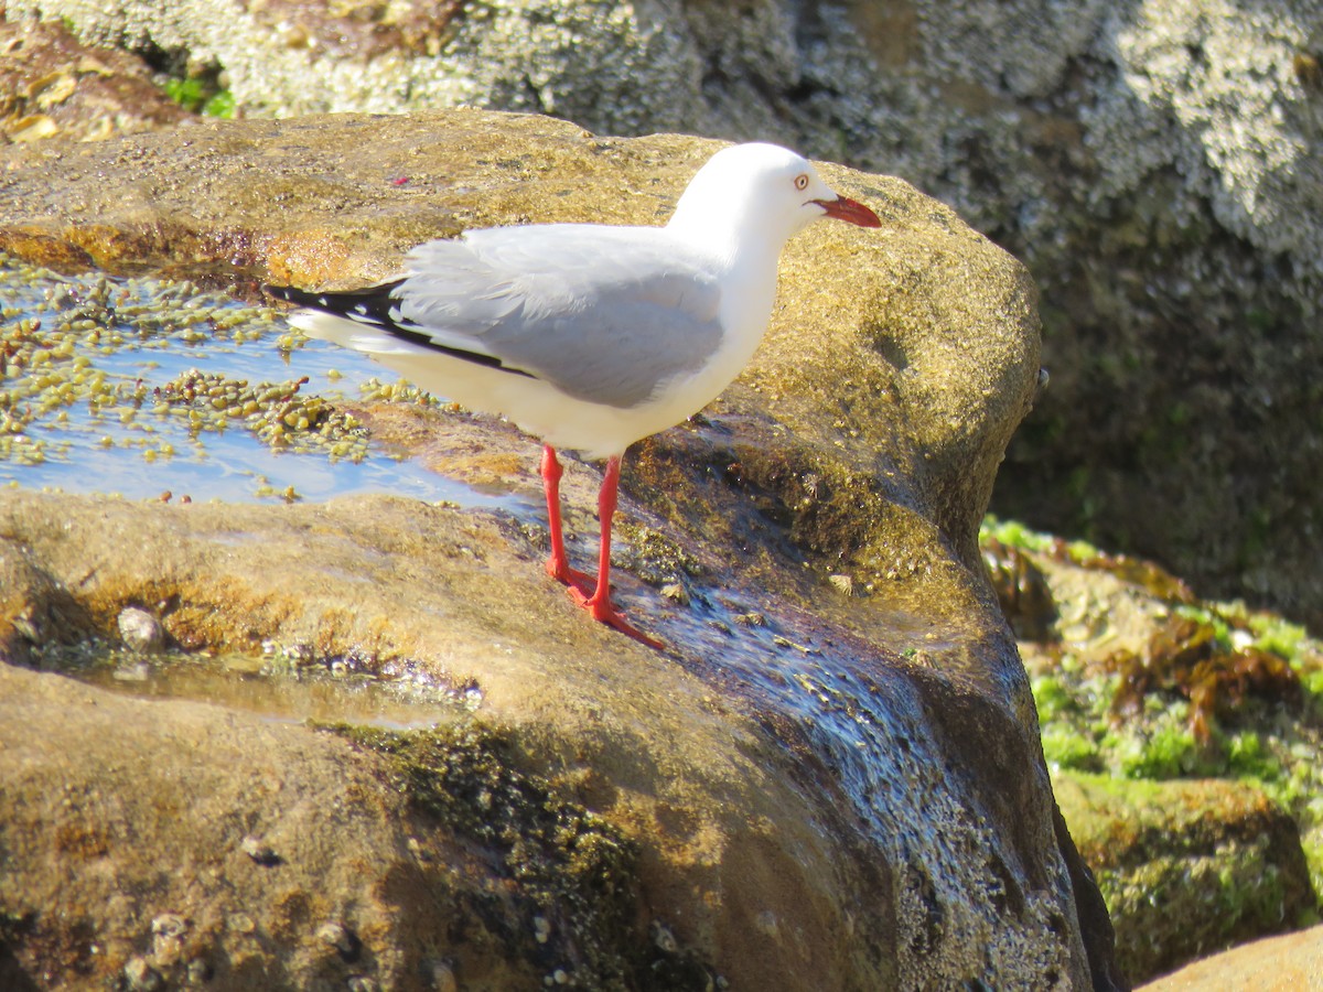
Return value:
<svg viewBox="0 0 1323 992">
<path fill-rule="evenodd" d="M 1126 973 L 1316 922 L 1323 645 L 1151 562 L 1013 522 L 982 540 Z"/>
</svg>

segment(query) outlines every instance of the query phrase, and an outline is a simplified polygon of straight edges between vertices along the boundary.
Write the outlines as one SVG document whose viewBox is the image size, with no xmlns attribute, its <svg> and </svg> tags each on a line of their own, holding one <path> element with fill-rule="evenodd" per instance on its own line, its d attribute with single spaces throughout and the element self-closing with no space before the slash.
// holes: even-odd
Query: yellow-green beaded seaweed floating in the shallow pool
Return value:
<svg viewBox="0 0 1323 992">
<path fill-rule="evenodd" d="M 250 385 L 187 369 L 152 388 L 107 366 L 120 351 L 164 358 L 204 341 L 261 340 L 277 328 L 270 308 L 202 294 L 191 283 L 64 279 L 3 255 L 0 278 L 30 287 L 0 311 L 0 460 L 67 460 L 73 435 L 95 433 L 101 447 L 136 448 L 153 462 L 176 454 L 171 438 L 180 433 L 201 450 L 204 433 L 232 426 L 273 448 L 349 460 L 366 454 L 352 415 L 299 393 L 307 377 Z M 180 430 L 161 430 L 169 421 Z"/>
</svg>

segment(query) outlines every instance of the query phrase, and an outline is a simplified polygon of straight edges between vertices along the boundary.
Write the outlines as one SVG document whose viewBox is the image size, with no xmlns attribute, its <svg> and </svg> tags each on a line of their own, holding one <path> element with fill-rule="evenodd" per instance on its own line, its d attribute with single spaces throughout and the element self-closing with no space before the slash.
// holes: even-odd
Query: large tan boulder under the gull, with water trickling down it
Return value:
<svg viewBox="0 0 1323 992">
<path fill-rule="evenodd" d="M 468 225 L 655 222 L 712 147 L 480 112 L 44 144 L 4 153 L 0 243 L 241 286 L 366 282 Z M 131 983 L 197 968 L 235 988 L 323 973 L 405 988 L 558 972 L 607 988 L 1119 981 L 976 545 L 1036 390 L 1032 288 L 904 183 L 824 172 L 882 229 L 798 239 L 747 373 L 627 463 L 619 597 L 669 652 L 586 623 L 542 575 L 541 532 L 508 512 L 0 497 L 13 663 L 58 668 L 61 643 L 116 643 L 140 607 L 185 652 L 273 645 L 472 702 L 433 734 L 277 727 L 247 751 L 241 713 L 5 671 L 4 725 L 58 712 L 61 727 L 3 750 L 26 811 L 4 845 L 28 853 L 5 865 L 0 962 Z M 381 413 L 372 427 L 536 493 L 536 443 L 487 418 Z M 593 470 L 566 483 L 591 505 Z M 570 526 L 593 529 L 582 511 Z M 87 742 L 108 746 L 83 761 Z M 247 783 L 214 787 L 230 816 L 159 815 L 194 762 L 200 780 Z M 353 788 L 332 799 L 336 765 Z M 42 770 L 82 804 L 53 798 Z M 97 870 L 62 889 L 58 839 L 86 832 L 85 808 L 106 824 L 78 848 Z M 161 850 L 183 870 L 163 872 Z M 132 902 L 103 909 L 116 878 L 134 880 Z M 418 901 L 450 926 L 415 939 Z"/>
</svg>

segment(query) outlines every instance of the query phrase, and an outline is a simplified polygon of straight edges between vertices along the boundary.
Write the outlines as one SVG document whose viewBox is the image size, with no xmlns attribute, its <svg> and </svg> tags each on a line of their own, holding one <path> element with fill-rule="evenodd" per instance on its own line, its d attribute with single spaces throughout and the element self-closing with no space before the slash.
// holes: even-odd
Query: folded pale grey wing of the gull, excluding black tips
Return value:
<svg viewBox="0 0 1323 992">
<path fill-rule="evenodd" d="M 655 227 L 534 225 L 434 241 L 407 258 L 400 316 L 569 395 L 630 407 L 721 345 L 721 288 Z"/>
</svg>

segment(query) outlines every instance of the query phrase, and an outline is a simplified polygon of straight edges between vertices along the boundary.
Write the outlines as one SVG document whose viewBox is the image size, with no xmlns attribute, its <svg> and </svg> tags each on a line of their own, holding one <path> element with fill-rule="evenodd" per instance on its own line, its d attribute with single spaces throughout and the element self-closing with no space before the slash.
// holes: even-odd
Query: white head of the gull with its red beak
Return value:
<svg viewBox="0 0 1323 992">
<path fill-rule="evenodd" d="M 823 217 L 881 226 L 877 214 L 823 183 L 808 159 L 775 144 L 736 144 L 708 159 L 689 180 L 667 227 L 699 239 L 771 241 L 779 251 Z"/>
</svg>

